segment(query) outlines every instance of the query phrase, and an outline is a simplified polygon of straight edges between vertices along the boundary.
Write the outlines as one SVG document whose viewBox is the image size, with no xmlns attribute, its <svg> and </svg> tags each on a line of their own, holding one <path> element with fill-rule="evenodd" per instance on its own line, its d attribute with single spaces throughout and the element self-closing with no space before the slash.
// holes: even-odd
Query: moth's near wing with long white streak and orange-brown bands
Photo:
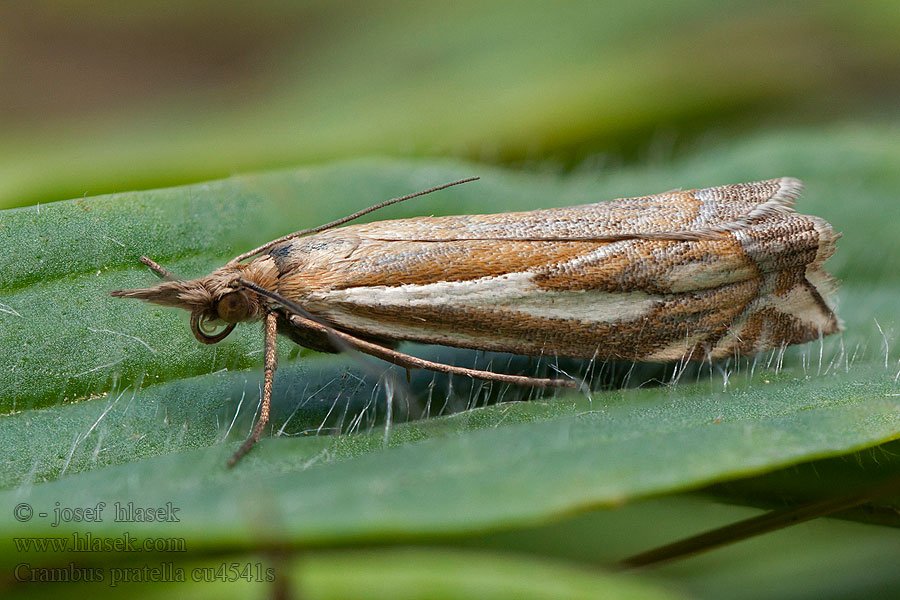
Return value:
<svg viewBox="0 0 900 600">
<path fill-rule="evenodd" d="M 384 338 L 585 358 L 719 358 L 837 331 L 821 270 L 832 249 L 827 224 L 800 215 L 719 240 L 380 242 L 333 285 L 314 277 L 298 286 L 295 276 L 281 290 L 336 325 Z"/>
</svg>

